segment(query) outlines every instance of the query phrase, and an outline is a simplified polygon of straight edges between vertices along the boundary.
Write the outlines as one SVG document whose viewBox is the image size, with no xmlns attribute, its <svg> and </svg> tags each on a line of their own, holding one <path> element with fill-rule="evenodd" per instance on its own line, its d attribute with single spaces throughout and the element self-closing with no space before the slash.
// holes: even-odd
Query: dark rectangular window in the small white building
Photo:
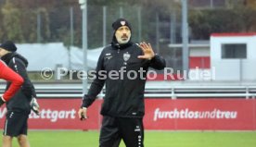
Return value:
<svg viewBox="0 0 256 147">
<path fill-rule="evenodd" d="M 246 43 L 226 43 L 222 44 L 222 58 L 238 59 L 247 58 Z"/>
</svg>

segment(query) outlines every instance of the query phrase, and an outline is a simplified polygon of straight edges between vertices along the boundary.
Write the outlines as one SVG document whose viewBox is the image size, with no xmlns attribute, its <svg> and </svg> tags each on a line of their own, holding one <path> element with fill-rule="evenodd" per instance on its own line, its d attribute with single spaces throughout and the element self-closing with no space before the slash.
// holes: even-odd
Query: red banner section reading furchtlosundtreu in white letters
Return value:
<svg viewBox="0 0 256 147">
<path fill-rule="evenodd" d="M 148 99 L 146 129 L 255 129 L 255 100 Z"/>
</svg>

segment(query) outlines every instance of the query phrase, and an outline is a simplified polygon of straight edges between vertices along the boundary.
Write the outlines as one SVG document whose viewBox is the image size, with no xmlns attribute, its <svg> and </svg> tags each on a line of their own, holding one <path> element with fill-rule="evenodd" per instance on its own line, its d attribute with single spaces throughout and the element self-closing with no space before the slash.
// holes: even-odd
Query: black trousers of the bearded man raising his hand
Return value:
<svg viewBox="0 0 256 147">
<path fill-rule="evenodd" d="M 142 118 L 103 116 L 99 147 L 119 147 L 121 140 L 126 147 L 144 147 Z"/>
</svg>

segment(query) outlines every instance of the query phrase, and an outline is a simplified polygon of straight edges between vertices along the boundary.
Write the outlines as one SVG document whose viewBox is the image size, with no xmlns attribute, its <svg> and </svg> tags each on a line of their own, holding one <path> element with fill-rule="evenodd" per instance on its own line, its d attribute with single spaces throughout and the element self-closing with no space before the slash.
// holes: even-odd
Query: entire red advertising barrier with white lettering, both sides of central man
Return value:
<svg viewBox="0 0 256 147">
<path fill-rule="evenodd" d="M 40 116 L 30 116 L 30 129 L 99 129 L 102 100 L 88 109 L 89 118 L 80 121 L 77 109 L 81 99 L 39 99 Z M 0 126 L 4 127 L 6 108 L 0 108 Z M 146 129 L 256 129 L 254 99 L 146 99 Z"/>
</svg>

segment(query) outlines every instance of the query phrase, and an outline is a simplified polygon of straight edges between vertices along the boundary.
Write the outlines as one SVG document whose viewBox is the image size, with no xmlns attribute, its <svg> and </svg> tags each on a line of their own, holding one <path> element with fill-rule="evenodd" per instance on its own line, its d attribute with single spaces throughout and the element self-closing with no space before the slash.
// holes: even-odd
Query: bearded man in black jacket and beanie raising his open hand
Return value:
<svg viewBox="0 0 256 147">
<path fill-rule="evenodd" d="M 163 69 L 165 60 L 154 53 L 149 43 L 131 42 L 132 28 L 126 19 L 118 18 L 112 28 L 112 43 L 99 56 L 96 79 L 83 96 L 78 115 L 81 119 L 87 117 L 87 108 L 106 84 L 99 146 L 118 147 L 123 140 L 127 147 L 143 147 L 147 69 Z"/>
</svg>

